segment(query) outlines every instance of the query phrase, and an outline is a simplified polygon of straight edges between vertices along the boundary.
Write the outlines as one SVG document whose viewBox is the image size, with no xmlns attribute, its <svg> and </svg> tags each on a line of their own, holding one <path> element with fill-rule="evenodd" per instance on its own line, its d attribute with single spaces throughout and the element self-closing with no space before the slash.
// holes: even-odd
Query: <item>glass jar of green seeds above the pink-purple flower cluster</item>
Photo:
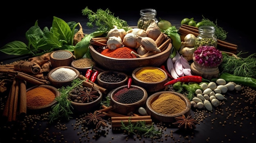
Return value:
<svg viewBox="0 0 256 143">
<path fill-rule="evenodd" d="M 199 46 L 214 46 L 217 48 L 217 37 L 215 35 L 215 27 L 200 26 L 198 28 L 199 35 L 195 39 L 195 48 Z"/>
</svg>

